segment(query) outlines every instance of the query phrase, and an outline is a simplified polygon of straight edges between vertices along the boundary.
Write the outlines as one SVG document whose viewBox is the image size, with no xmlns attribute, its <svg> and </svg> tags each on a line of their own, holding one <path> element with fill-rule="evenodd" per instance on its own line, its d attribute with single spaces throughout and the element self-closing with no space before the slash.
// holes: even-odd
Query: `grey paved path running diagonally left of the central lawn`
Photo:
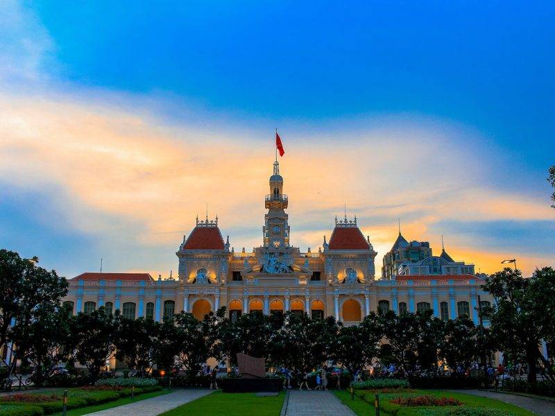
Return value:
<svg viewBox="0 0 555 416">
<path fill-rule="evenodd" d="M 209 395 L 214 390 L 176 390 L 167 395 L 151 397 L 136 401 L 135 403 L 124 404 L 123 406 L 101 410 L 100 412 L 89 413 L 94 416 L 155 416 L 167 412 L 173 408 L 189 403 L 194 399 Z M 140 396 L 139 396 L 140 397 Z"/>
</svg>

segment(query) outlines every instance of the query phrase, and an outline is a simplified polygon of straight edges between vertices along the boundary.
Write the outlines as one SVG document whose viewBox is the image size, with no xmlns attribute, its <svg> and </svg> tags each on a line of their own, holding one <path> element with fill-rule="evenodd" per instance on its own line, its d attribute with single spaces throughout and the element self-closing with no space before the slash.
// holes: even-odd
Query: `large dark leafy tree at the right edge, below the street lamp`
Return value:
<svg viewBox="0 0 555 416">
<path fill-rule="evenodd" d="M 495 298 L 494 306 L 486 312 L 499 346 L 513 360 L 524 358 L 530 383 L 536 383 L 538 364 L 544 375 L 555 381 L 540 349 L 543 341 L 554 340 L 555 270 L 546 267 L 524 278 L 520 270 L 504 268 L 490 275 L 483 288 Z"/>
</svg>

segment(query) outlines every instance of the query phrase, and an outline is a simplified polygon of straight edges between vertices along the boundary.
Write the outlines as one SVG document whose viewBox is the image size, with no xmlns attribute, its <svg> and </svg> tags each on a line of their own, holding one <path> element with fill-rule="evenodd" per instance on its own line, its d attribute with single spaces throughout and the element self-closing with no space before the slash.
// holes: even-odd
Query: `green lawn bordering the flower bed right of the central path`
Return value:
<svg viewBox="0 0 555 416">
<path fill-rule="evenodd" d="M 370 415 L 373 413 L 373 404 L 368 404 L 366 401 L 360 399 L 359 397 L 355 397 L 355 401 L 351 400 L 350 393 L 348 391 L 333 391 L 334 394 L 349 408 L 352 409 L 357 415 Z M 487 399 L 486 397 L 478 397 L 472 395 L 464 395 L 463 393 L 456 393 L 456 392 L 445 392 L 442 390 L 416 390 L 418 394 L 422 395 L 434 395 L 436 397 L 454 397 L 454 399 L 459 399 L 463 402 L 463 404 L 471 407 L 482 407 L 482 408 L 494 408 L 500 410 L 502 412 L 506 412 L 507 415 L 514 415 L 514 416 L 532 416 L 533 413 L 529 412 L 529 410 L 525 410 L 523 408 L 519 408 L 512 404 L 504 403 L 499 400 L 495 399 Z M 412 408 L 417 409 L 417 408 Z M 421 408 L 422 409 L 422 408 Z M 383 410 L 380 412 L 381 415 L 388 415 Z M 422 413 L 414 413 L 422 414 Z"/>
</svg>

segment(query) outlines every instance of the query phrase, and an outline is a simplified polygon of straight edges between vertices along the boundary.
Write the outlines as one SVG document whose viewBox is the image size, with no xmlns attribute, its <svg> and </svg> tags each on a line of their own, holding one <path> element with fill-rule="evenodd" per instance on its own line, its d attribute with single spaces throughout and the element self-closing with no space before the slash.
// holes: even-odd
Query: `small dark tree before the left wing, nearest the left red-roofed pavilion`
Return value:
<svg viewBox="0 0 555 416">
<path fill-rule="evenodd" d="M 118 361 L 126 361 L 140 375 L 148 374 L 155 361 L 160 323 L 152 318 L 121 319 L 114 345 Z"/>
</svg>

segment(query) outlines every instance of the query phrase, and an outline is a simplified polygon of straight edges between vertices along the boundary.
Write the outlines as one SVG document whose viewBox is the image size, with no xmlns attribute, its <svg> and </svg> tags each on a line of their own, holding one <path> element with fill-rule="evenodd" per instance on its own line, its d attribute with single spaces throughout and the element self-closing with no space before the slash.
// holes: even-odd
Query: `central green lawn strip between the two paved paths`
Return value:
<svg viewBox="0 0 555 416">
<path fill-rule="evenodd" d="M 211 415 L 211 416 L 279 416 L 285 393 L 278 396 L 257 397 L 255 393 L 223 393 L 200 397 L 162 413 L 164 416 Z"/>
</svg>

